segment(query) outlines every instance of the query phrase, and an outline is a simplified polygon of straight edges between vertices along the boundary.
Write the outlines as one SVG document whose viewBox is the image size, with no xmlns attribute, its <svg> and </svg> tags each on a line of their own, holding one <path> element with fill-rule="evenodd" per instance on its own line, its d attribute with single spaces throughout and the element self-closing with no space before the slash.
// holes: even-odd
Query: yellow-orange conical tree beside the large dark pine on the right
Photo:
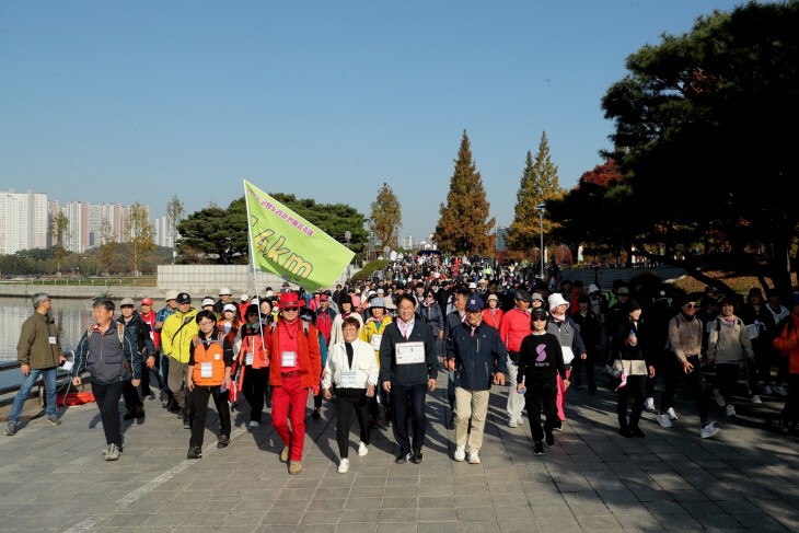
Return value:
<svg viewBox="0 0 799 533">
<path fill-rule="evenodd" d="M 535 209 L 541 201 L 560 198 L 566 193 L 560 188 L 557 175 L 557 165 L 553 164 L 549 155 L 549 143 L 546 131 L 541 134 L 539 152 L 533 160 L 532 152 L 528 151 L 524 171 L 517 193 L 517 204 L 513 222 L 510 224 L 510 234 L 506 237 L 508 247 L 517 252 L 526 252 L 541 243 L 541 221 Z M 553 229 L 553 221 L 544 216 L 544 245 L 547 245 L 547 234 Z"/>
</svg>

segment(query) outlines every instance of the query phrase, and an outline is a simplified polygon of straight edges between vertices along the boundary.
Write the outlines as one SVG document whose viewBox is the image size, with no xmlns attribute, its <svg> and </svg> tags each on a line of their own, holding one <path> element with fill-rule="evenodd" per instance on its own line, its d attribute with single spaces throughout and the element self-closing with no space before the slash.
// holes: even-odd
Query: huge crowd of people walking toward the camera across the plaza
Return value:
<svg viewBox="0 0 799 533">
<path fill-rule="evenodd" d="M 161 406 L 189 430 L 188 459 L 202 456 L 209 401 L 219 416 L 217 448 L 231 437 L 231 409 L 250 406 L 255 430 L 270 408 L 282 441 L 280 461 L 302 472 L 306 406 L 322 418 L 325 401 L 337 416 L 338 472 L 349 468 L 349 427 L 358 420 L 358 455 L 369 452 L 371 431 L 391 426 L 395 462 L 424 461 L 426 396 L 447 374 L 445 392 L 454 431 L 454 461 L 480 462 L 493 393 L 507 386 L 506 424 L 524 424 L 532 453 L 555 444 L 567 418 L 569 389 L 595 394 L 600 378 L 617 393 L 618 432 L 645 438 L 644 412 L 657 424 L 680 424 L 675 395 L 691 390 L 698 414 L 696 436 L 713 438 L 713 401 L 723 416 L 761 396 L 785 398 L 777 429 L 799 422 L 799 294 L 789 308 L 779 294 L 753 288 L 745 299 L 722 299 L 707 287 L 700 298 L 655 277 L 598 283 L 586 289 L 561 279 L 557 268 L 542 277 L 526 260 L 497 265 L 477 258 L 430 255 L 396 260 L 363 282 L 313 293 L 289 283 L 263 294 L 229 288 L 195 306 L 186 292 L 170 292 L 163 309 L 153 300 L 116 304 L 97 300 L 94 324 L 73 348 L 72 383 L 89 372 L 105 432 L 105 460 L 124 450 L 123 419 L 144 418 L 142 398 L 161 392 Z M 18 346 L 24 381 L 12 406 L 7 436 L 18 431 L 24 399 L 39 375 L 47 390 L 47 421 L 56 412 L 56 372 L 67 361 L 50 310 L 38 293 Z M 199 308 L 199 309 L 198 309 Z M 67 348 L 67 347 L 63 347 Z M 70 347 L 71 348 L 71 347 Z M 776 370 L 776 372 L 775 372 Z M 151 375 L 152 374 L 152 375 Z M 708 375 L 709 374 L 709 375 Z M 656 406 L 655 391 L 662 376 Z M 706 389 L 707 387 L 707 389 Z M 572 393 L 574 394 L 574 393 Z M 241 398 L 240 396 L 243 396 Z M 408 424 L 409 421 L 409 424 Z M 408 431 L 408 426 L 410 431 Z"/>
</svg>

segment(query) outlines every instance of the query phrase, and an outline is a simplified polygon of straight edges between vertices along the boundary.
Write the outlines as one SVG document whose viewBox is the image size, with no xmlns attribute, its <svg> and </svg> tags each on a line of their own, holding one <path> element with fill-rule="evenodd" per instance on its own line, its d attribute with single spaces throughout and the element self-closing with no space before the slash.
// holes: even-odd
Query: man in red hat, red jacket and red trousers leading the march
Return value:
<svg viewBox="0 0 799 533">
<path fill-rule="evenodd" d="M 269 366 L 269 384 L 273 386 L 271 421 L 283 441 L 280 461 L 289 463 L 291 475 L 302 472 L 308 391 L 310 389 L 314 395 L 319 393 L 322 375 L 319 332 L 312 324 L 300 318 L 303 303 L 296 292 L 279 294 L 276 306 L 280 310 L 280 315 L 269 327 L 267 340 L 273 358 Z"/>
</svg>

